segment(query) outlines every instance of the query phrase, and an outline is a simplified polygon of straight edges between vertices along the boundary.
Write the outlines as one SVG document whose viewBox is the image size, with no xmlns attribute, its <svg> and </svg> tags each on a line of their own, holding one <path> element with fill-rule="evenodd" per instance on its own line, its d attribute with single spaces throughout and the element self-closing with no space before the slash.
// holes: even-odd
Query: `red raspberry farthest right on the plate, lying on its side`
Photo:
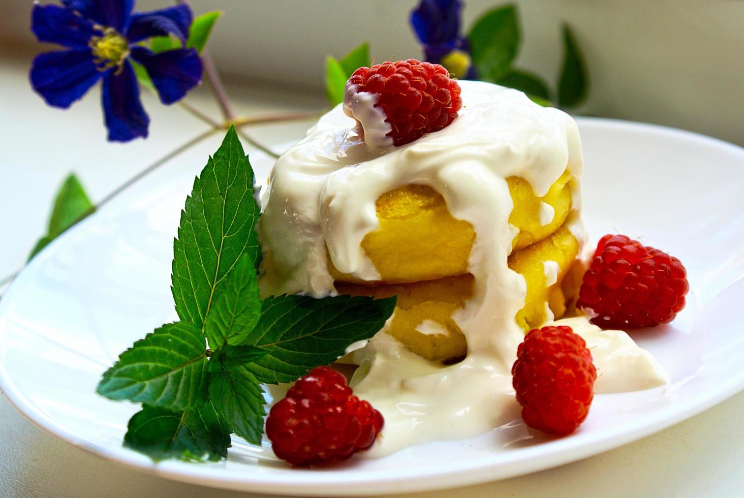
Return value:
<svg viewBox="0 0 744 498">
<path fill-rule="evenodd" d="M 577 306 L 606 328 L 652 327 L 671 322 L 684 307 L 687 272 L 666 252 L 625 235 L 607 234 L 584 274 Z"/>
</svg>

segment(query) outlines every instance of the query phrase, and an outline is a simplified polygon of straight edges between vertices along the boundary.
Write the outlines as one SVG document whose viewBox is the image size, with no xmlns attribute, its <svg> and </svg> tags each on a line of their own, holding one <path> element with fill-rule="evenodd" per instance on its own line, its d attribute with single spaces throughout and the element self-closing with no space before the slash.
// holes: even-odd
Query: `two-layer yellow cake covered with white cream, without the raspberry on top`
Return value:
<svg viewBox="0 0 744 498">
<path fill-rule="evenodd" d="M 583 244 L 576 125 L 516 90 L 460 86 L 443 130 L 373 147 L 380 123 L 360 129 L 347 103 L 278 160 L 264 292 L 396 295 L 384 333 L 443 363 L 562 316 Z"/>
</svg>

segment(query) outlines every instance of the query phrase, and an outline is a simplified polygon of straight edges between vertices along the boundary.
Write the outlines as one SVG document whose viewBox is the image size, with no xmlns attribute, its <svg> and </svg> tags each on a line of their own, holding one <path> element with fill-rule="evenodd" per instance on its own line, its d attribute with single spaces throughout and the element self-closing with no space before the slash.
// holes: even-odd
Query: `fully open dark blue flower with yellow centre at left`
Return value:
<svg viewBox="0 0 744 498">
<path fill-rule="evenodd" d="M 202 79 L 202 61 L 193 48 L 155 54 L 138 42 L 174 35 L 185 43 L 193 16 L 185 5 L 132 13 L 134 0 L 62 0 L 33 6 L 31 31 L 39 42 L 66 50 L 39 54 L 31 85 L 50 106 L 66 109 L 98 80 L 109 140 L 147 137 L 150 118 L 142 108 L 137 77 L 129 63 L 147 69 L 164 104 L 181 100 Z"/>
</svg>

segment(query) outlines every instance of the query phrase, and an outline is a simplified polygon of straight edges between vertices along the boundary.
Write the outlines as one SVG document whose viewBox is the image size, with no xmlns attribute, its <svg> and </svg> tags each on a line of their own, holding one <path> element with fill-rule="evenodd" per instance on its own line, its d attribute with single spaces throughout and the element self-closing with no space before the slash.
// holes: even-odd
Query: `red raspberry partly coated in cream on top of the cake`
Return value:
<svg viewBox="0 0 744 498">
<path fill-rule="evenodd" d="M 394 145 L 408 144 L 424 133 L 446 127 L 463 105 L 460 85 L 439 64 L 415 59 L 359 68 L 348 83 L 357 92 L 379 95 L 376 107 L 388 117 Z"/>
</svg>

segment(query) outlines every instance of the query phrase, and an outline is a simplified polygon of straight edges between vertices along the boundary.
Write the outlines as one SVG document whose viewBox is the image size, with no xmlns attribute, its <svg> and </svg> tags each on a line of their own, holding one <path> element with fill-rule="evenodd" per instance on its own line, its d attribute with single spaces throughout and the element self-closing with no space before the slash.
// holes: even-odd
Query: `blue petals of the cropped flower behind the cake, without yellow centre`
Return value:
<svg viewBox="0 0 744 498">
<path fill-rule="evenodd" d="M 459 0 L 421 0 L 411 12 L 411 25 L 426 45 L 452 43 L 460 32 Z"/>
</svg>

